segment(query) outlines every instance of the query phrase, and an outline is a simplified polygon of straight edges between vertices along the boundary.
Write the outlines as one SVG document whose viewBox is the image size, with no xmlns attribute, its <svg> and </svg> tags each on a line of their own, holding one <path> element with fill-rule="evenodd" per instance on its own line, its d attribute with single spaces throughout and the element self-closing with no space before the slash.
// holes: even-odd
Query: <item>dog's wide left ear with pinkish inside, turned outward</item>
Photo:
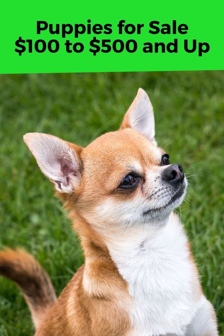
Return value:
<svg viewBox="0 0 224 336">
<path fill-rule="evenodd" d="M 80 185 L 82 147 L 43 133 L 27 133 L 24 141 L 58 192 L 69 194 Z"/>
</svg>

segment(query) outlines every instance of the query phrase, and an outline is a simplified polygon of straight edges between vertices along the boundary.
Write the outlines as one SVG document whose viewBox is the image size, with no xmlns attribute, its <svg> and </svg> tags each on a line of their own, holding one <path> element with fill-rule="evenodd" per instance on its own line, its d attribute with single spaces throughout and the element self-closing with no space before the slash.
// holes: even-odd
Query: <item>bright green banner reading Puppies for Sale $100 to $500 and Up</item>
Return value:
<svg viewBox="0 0 224 336">
<path fill-rule="evenodd" d="M 0 73 L 223 70 L 222 1 L 5 2 Z"/>
</svg>

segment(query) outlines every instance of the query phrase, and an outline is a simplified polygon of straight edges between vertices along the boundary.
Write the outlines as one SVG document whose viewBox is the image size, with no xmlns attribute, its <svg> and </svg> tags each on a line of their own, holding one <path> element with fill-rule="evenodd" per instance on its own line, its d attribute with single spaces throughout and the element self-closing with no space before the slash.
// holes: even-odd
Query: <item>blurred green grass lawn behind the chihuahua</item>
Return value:
<svg viewBox="0 0 224 336">
<path fill-rule="evenodd" d="M 138 87 L 154 106 L 158 143 L 172 163 L 196 174 L 182 221 L 224 335 L 224 72 L 1 75 L 0 247 L 26 248 L 60 294 L 84 258 L 23 134 L 50 133 L 85 146 L 119 127 Z M 0 335 L 33 332 L 21 293 L 0 278 Z"/>
</svg>

